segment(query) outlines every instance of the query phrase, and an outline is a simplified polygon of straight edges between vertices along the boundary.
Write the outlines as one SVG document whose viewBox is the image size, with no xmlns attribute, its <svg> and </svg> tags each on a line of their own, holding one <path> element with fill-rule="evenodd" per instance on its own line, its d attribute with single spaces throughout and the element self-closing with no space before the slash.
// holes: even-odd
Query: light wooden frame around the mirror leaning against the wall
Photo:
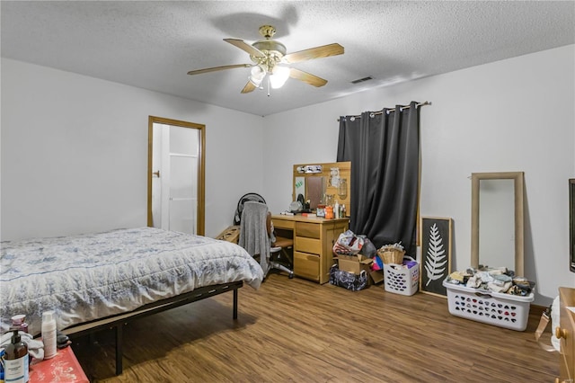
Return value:
<svg viewBox="0 0 575 383">
<path fill-rule="evenodd" d="M 513 180 L 514 185 L 514 211 L 515 211 L 515 274 L 524 276 L 524 172 L 499 172 L 499 173 L 473 173 L 472 180 L 472 213 L 471 213 L 471 265 L 479 267 L 479 242 L 480 242 L 480 183 L 482 180 Z M 505 265 L 501 265 L 505 266 Z"/>
</svg>

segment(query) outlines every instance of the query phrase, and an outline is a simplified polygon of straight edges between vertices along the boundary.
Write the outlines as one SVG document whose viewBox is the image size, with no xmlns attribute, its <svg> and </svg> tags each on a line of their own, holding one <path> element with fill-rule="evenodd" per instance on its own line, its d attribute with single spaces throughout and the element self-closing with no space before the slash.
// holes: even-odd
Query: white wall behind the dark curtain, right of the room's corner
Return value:
<svg viewBox="0 0 575 383">
<path fill-rule="evenodd" d="M 266 117 L 265 195 L 271 209 L 287 209 L 292 198 L 290 165 L 335 161 L 340 115 L 432 102 L 420 111 L 420 213 L 454 219 L 453 270 L 470 265 L 470 175 L 523 171 L 526 277 L 537 283 L 535 302 L 550 303 L 558 287 L 575 286 L 568 270 L 574 49 L 546 50 Z M 303 137 L 306 145 L 279 144 Z"/>
</svg>

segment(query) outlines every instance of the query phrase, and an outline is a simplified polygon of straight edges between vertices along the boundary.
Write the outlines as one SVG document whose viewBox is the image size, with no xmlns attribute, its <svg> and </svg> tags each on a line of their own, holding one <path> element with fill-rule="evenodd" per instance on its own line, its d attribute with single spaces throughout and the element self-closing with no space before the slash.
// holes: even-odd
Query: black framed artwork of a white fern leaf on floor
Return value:
<svg viewBox="0 0 575 383">
<path fill-rule="evenodd" d="M 451 218 L 421 217 L 420 291 L 447 297 L 451 273 Z"/>
</svg>

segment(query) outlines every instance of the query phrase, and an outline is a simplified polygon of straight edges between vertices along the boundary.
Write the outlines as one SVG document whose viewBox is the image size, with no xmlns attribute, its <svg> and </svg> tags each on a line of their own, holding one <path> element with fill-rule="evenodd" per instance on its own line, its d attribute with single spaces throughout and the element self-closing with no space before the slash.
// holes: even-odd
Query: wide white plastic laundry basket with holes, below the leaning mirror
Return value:
<svg viewBox="0 0 575 383">
<path fill-rule="evenodd" d="M 533 292 L 526 297 L 521 297 L 472 289 L 447 281 L 443 281 L 443 286 L 447 289 L 449 314 L 510 330 L 524 331 L 526 329 L 529 304 L 535 299 Z"/>
</svg>

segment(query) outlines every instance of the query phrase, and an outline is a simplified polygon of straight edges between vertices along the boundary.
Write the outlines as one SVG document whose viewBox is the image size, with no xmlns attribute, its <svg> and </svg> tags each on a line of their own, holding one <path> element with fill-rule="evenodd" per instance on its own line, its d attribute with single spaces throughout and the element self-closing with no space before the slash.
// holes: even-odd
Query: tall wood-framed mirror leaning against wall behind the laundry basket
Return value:
<svg viewBox="0 0 575 383">
<path fill-rule="evenodd" d="M 472 174 L 471 265 L 524 276 L 523 172 Z"/>
</svg>

